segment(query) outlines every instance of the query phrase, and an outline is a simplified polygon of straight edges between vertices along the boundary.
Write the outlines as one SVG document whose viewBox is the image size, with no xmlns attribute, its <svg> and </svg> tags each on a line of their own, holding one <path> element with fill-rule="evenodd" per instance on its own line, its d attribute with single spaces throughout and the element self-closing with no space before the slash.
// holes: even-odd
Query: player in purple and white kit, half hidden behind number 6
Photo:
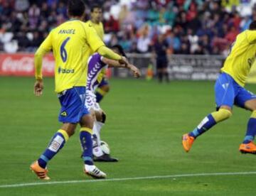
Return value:
<svg viewBox="0 0 256 196">
<path fill-rule="evenodd" d="M 126 57 L 124 50 L 121 45 L 112 46 L 112 50 L 124 57 Z M 100 148 L 100 130 L 102 126 L 105 124 L 106 114 L 100 108 L 100 105 L 97 103 L 95 90 L 100 84 L 99 75 L 102 70 L 107 67 L 125 67 L 132 71 L 134 77 L 139 77 L 140 72 L 134 65 L 122 65 L 117 60 L 110 60 L 108 58 L 102 57 L 99 53 L 95 53 L 90 56 L 88 60 L 88 73 L 87 73 L 87 86 L 86 86 L 86 100 L 85 105 L 90 110 L 90 113 L 94 119 L 94 125 L 92 128 L 92 141 L 93 148 L 92 153 L 95 161 L 105 161 L 105 162 L 116 162 L 117 158 L 110 157 L 109 154 L 105 154 Z"/>
</svg>

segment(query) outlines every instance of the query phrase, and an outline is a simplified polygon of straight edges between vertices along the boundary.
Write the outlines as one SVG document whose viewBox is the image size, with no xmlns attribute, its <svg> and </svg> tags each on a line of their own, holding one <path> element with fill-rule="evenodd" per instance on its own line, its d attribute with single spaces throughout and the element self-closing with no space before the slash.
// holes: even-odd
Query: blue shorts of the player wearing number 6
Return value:
<svg viewBox="0 0 256 196">
<path fill-rule="evenodd" d="M 85 87 L 73 87 L 58 93 L 60 114 L 58 120 L 63 123 L 78 123 L 82 116 L 90 114 L 85 107 Z"/>
</svg>

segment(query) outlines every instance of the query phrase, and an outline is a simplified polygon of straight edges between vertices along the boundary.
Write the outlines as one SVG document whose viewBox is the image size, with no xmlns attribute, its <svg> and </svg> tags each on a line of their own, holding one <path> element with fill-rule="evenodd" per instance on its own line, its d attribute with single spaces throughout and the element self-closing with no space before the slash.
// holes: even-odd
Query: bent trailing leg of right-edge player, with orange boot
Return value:
<svg viewBox="0 0 256 196">
<path fill-rule="evenodd" d="M 193 131 L 183 135 L 182 144 L 186 152 L 191 149 L 198 136 L 232 115 L 235 93 L 233 80 L 225 74 L 220 75 L 215 82 L 215 102 L 218 110 L 208 114 Z"/>
</svg>

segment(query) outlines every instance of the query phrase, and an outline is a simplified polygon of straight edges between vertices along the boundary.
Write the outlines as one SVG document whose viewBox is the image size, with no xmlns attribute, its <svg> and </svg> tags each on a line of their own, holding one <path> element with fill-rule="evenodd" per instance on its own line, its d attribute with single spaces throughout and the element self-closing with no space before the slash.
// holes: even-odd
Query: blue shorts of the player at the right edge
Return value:
<svg viewBox="0 0 256 196">
<path fill-rule="evenodd" d="M 226 73 L 219 75 L 215 82 L 215 103 L 217 109 L 223 105 L 232 108 L 234 104 L 245 108 L 245 102 L 251 99 L 256 99 L 256 95 L 238 85 L 233 77 Z"/>
</svg>

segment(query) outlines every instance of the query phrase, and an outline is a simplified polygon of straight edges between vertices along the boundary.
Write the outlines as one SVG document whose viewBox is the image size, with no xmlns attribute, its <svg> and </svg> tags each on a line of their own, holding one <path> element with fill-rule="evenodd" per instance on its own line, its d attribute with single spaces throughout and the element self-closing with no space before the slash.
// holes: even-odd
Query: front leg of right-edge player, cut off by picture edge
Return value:
<svg viewBox="0 0 256 196">
<path fill-rule="evenodd" d="M 235 99 L 235 104 L 238 105 L 238 107 L 252 111 L 250 119 L 247 122 L 245 138 L 242 141 L 239 150 L 241 153 L 256 154 L 256 146 L 252 143 L 256 134 L 256 95 L 241 87 L 240 94 L 238 94 L 238 97 Z"/>
</svg>

